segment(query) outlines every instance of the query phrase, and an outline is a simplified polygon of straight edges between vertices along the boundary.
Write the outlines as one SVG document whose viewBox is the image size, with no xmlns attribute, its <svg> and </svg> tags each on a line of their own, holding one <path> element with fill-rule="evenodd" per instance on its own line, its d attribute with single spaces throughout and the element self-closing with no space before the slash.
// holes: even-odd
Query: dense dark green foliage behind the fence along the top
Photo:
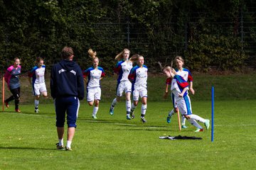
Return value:
<svg viewBox="0 0 256 170">
<path fill-rule="evenodd" d="M 146 57 L 151 72 L 156 62 L 169 64 L 183 55 L 192 70 L 242 68 L 245 40 L 240 36 L 240 13 L 250 11 L 250 1 L 128 1 L 128 0 L 0 0 L 1 72 L 14 57 L 23 70 L 37 56 L 51 66 L 60 50 L 71 46 L 82 69 L 90 66 L 92 47 L 101 65 L 111 72 L 114 56 L 124 47 Z M 244 16 L 254 22 L 250 13 Z M 255 38 L 250 29 L 250 40 Z M 252 48 L 253 49 L 253 48 Z M 251 52 L 251 51 L 250 51 Z M 210 59 L 210 60 L 209 60 Z M 255 60 L 250 57 L 246 62 Z"/>
</svg>

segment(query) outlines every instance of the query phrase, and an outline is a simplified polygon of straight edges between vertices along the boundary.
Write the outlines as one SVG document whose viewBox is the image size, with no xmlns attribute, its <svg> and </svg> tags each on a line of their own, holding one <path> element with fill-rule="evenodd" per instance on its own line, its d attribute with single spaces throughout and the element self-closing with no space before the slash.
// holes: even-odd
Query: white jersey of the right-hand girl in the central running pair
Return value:
<svg viewBox="0 0 256 170">
<path fill-rule="evenodd" d="M 129 80 L 132 81 L 132 90 L 136 87 L 143 87 L 146 89 L 147 72 L 148 68 L 145 65 L 132 68 L 129 73 Z"/>
</svg>

